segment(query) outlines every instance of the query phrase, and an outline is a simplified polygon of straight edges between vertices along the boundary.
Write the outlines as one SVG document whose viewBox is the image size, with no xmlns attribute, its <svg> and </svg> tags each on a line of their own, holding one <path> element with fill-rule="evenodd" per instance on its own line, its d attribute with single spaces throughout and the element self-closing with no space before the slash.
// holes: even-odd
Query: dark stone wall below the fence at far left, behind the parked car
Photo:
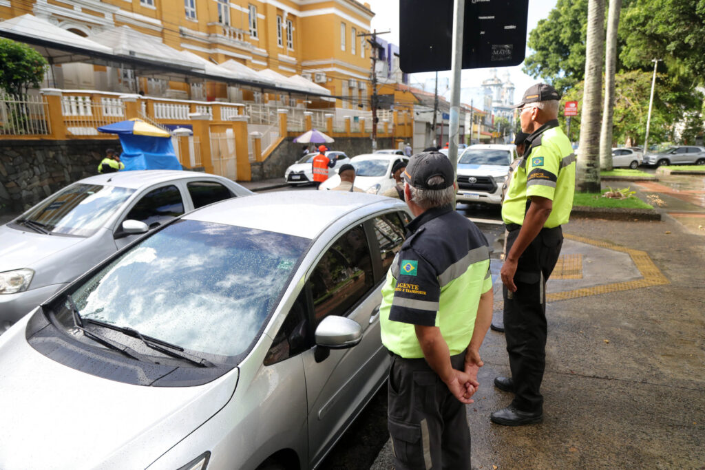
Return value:
<svg viewBox="0 0 705 470">
<path fill-rule="evenodd" d="M 116 139 L 0 140 L 0 214 L 20 212 L 62 187 L 98 173 Z"/>
</svg>

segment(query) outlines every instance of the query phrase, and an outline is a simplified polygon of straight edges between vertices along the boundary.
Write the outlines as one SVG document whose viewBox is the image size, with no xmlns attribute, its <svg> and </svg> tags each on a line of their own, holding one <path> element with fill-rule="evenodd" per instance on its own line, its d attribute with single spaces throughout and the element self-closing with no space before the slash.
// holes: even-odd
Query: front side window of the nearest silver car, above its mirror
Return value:
<svg viewBox="0 0 705 470">
<path fill-rule="evenodd" d="M 357 225 L 333 243 L 309 278 L 314 329 L 326 316 L 348 314 L 373 284 L 367 237 L 362 225 Z"/>
</svg>

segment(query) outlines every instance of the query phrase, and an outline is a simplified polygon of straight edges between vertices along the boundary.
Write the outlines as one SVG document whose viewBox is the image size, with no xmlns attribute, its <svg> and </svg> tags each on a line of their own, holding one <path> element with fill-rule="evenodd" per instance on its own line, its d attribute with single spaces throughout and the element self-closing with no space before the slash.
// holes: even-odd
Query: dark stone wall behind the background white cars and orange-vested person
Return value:
<svg viewBox="0 0 705 470">
<path fill-rule="evenodd" d="M 392 137 L 377 139 L 378 149 L 391 149 Z M 296 144 L 287 138 L 262 162 L 251 164 L 252 181 L 281 178 L 284 180 L 286 168 L 301 158 L 302 144 Z M 336 142 L 326 144 L 331 150 L 344 151 L 351 158 L 355 155 L 372 153 L 372 141 L 369 137 L 338 137 Z"/>
</svg>

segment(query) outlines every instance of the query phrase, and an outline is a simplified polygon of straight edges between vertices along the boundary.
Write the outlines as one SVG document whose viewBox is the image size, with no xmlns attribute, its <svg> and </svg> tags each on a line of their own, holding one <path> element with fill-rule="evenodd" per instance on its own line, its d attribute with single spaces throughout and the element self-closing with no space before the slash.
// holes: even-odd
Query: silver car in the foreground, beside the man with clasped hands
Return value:
<svg viewBox="0 0 705 470">
<path fill-rule="evenodd" d="M 106 259 L 0 336 L 0 468 L 315 468 L 386 379 L 407 220 L 372 194 L 257 194 Z"/>
</svg>

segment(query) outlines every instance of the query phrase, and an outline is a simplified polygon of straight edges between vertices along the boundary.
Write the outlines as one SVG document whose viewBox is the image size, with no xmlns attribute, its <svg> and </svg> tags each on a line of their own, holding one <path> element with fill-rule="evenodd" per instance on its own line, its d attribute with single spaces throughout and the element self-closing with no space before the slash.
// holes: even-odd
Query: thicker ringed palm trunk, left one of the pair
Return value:
<svg viewBox="0 0 705 470">
<path fill-rule="evenodd" d="M 602 103 L 602 49 L 605 44 L 605 0 L 589 0 L 585 89 L 580 116 L 580 148 L 577 155 L 579 192 L 600 192 L 600 105 Z"/>
</svg>

